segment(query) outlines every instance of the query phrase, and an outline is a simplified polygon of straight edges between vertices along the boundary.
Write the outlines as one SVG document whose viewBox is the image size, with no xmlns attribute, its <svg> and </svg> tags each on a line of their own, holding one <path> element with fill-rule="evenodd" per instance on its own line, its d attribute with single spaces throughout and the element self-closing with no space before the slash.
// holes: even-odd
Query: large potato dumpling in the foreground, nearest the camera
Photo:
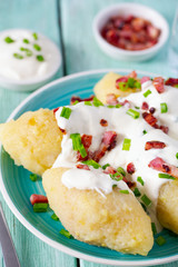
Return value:
<svg viewBox="0 0 178 267">
<path fill-rule="evenodd" d="M 49 205 L 66 229 L 81 241 L 146 256 L 154 245 L 151 224 L 135 196 L 118 188 L 106 198 L 95 190 L 68 189 L 61 182 L 66 170 L 42 176 Z"/>
</svg>

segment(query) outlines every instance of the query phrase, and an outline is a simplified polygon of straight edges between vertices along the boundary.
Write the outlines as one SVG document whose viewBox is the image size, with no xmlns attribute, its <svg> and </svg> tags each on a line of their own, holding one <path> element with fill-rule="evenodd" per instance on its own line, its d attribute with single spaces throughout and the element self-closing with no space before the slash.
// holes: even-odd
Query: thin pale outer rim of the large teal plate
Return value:
<svg viewBox="0 0 178 267">
<path fill-rule="evenodd" d="M 18 107 L 10 113 L 9 118 L 7 119 L 7 121 L 11 120 L 12 118 L 14 118 L 14 116 L 19 112 L 19 110 L 28 102 L 30 101 L 32 98 L 34 98 L 36 96 L 38 96 L 40 92 L 43 92 L 46 90 L 48 90 L 48 88 L 56 86 L 58 83 L 62 83 L 63 81 L 67 80 L 72 80 L 76 78 L 80 78 L 83 76 L 92 76 L 92 75 L 97 75 L 97 73 L 107 73 L 107 72 L 131 72 L 132 70 L 130 69 L 96 69 L 96 70 L 87 70 L 87 71 L 81 71 L 81 72 L 77 72 L 77 73 L 72 73 L 62 78 L 59 78 L 55 81 L 51 81 L 49 83 L 47 83 L 46 86 L 41 87 L 40 89 L 36 90 L 34 92 L 32 92 L 30 96 L 28 96 L 24 100 L 22 100 Z M 149 71 L 142 71 L 142 70 L 137 70 L 136 72 L 138 72 L 139 75 L 144 75 L 144 76 L 152 76 L 156 77 L 158 75 L 149 72 Z M 7 122 L 6 121 L 6 122 Z M 2 149 L 2 145 L 0 146 L 0 148 Z M 101 257 L 96 257 L 96 256 L 90 256 L 90 255 L 86 255 L 85 253 L 80 253 L 76 249 L 71 249 L 56 240 L 52 240 L 51 238 L 47 237 L 44 234 L 42 234 L 40 230 L 36 229 L 34 226 L 32 226 L 21 214 L 20 211 L 16 208 L 13 201 L 11 200 L 11 198 L 8 195 L 8 191 L 4 187 L 3 184 L 3 179 L 2 179 L 2 172 L 0 170 L 0 190 L 1 194 L 7 202 L 7 205 L 9 206 L 10 210 L 13 212 L 13 215 L 17 217 L 17 219 L 29 230 L 31 231 L 34 236 L 37 236 L 39 239 L 41 239 L 42 241 L 47 243 L 49 246 L 61 250 L 62 253 L 66 253 L 72 257 L 76 258 L 80 258 L 80 259 L 85 259 L 85 260 L 89 260 L 92 263 L 97 263 L 97 264 L 103 264 L 103 265 L 111 265 L 111 266 L 151 266 L 151 265 L 160 265 L 160 264 L 167 264 L 167 263 L 171 263 L 175 260 L 178 260 L 178 254 L 174 255 L 174 256 L 167 256 L 164 258 L 159 258 L 159 259 L 144 259 L 144 260 L 139 260 L 139 261 L 131 261 L 131 260 L 118 260 L 118 259 L 106 259 L 106 258 L 101 258 Z"/>
</svg>

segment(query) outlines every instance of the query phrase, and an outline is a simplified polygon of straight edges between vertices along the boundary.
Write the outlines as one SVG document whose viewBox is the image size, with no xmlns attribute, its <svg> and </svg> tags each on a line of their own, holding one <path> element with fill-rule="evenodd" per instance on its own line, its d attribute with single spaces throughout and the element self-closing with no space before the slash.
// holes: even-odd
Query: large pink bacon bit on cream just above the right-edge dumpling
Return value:
<svg viewBox="0 0 178 267">
<path fill-rule="evenodd" d="M 156 169 L 158 171 L 162 171 L 169 174 L 170 176 L 178 178 L 178 168 L 174 165 L 167 164 L 164 159 L 157 157 L 152 159 L 148 167 Z"/>
</svg>

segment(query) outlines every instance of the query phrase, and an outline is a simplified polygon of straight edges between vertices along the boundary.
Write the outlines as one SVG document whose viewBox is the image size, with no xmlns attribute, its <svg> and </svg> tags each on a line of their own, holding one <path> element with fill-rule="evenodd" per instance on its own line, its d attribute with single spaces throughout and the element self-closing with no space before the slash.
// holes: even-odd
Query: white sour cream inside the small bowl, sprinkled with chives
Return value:
<svg viewBox="0 0 178 267">
<path fill-rule="evenodd" d="M 10 37 L 14 42 L 7 43 L 4 39 Z M 24 43 L 28 39 L 29 43 Z M 41 51 L 37 51 L 33 44 L 40 46 Z M 20 48 L 27 48 L 32 51 L 31 57 L 26 56 L 26 51 Z M 13 53 L 23 56 L 23 59 L 17 59 Z M 36 59 L 37 55 L 42 55 L 43 61 Z M 0 33 L 0 76 L 11 80 L 28 80 L 31 78 L 43 78 L 59 61 L 56 57 L 53 43 L 46 37 L 38 33 L 38 40 L 34 40 L 32 32 L 28 30 L 8 30 Z"/>
</svg>

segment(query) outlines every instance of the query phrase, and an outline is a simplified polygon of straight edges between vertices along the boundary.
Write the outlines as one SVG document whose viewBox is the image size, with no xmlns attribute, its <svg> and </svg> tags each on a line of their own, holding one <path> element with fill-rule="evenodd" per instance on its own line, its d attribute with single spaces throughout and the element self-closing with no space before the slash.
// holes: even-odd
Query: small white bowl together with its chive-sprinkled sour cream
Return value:
<svg viewBox="0 0 178 267">
<path fill-rule="evenodd" d="M 0 32 L 0 85 L 20 91 L 48 82 L 61 66 L 58 47 L 41 33 L 26 29 Z"/>
</svg>

